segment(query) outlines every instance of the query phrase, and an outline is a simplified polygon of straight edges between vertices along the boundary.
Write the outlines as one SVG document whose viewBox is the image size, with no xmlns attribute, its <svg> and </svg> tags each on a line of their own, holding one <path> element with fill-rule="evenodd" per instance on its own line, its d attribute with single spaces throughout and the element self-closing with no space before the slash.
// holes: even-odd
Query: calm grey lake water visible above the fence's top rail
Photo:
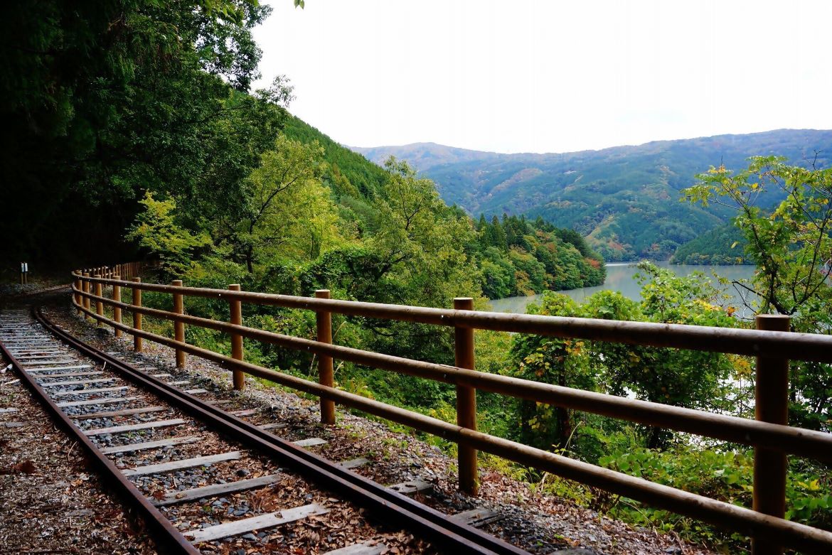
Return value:
<svg viewBox="0 0 832 555">
<path fill-rule="evenodd" d="M 754 274 L 753 266 L 685 266 L 666 262 L 656 263 L 656 266 L 672 270 L 679 276 L 688 276 L 694 272 L 704 273 L 706 278 L 709 278 L 711 282 L 716 285 L 716 287 L 719 287 L 727 294 L 731 295 L 728 304 L 736 307 L 737 312 L 743 312 L 741 310 L 742 302 L 740 297 L 735 292 L 734 287 L 730 284 L 722 286 L 716 281 L 713 274 L 716 273 L 716 275 L 729 280 L 750 279 Z M 638 301 L 641 300 L 641 287 L 639 287 L 638 282 L 636 282 L 635 278 L 633 278 L 633 275 L 637 272 L 638 268 L 636 268 L 636 263 L 610 263 L 607 264 L 607 281 L 604 282 L 603 285 L 599 285 L 597 287 L 569 289 L 568 291 L 561 292 L 569 297 L 572 297 L 577 302 L 583 302 L 585 298 L 589 297 L 594 292 L 611 289 L 612 291 L 620 291 L 626 297 L 629 297 L 634 301 Z M 541 295 L 532 295 L 531 297 L 506 297 L 502 299 L 495 299 L 491 302 L 491 307 L 495 312 L 515 312 L 522 314 L 523 312 L 526 312 L 526 306 L 530 302 L 535 302 L 540 297 Z"/>
</svg>

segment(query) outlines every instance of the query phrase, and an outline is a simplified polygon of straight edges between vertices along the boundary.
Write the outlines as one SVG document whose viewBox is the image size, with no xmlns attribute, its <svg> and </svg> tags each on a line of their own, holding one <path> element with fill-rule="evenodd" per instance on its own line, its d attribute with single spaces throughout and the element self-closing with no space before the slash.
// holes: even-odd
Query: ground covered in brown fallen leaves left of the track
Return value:
<svg viewBox="0 0 832 555">
<path fill-rule="evenodd" d="M 0 406 L 19 409 L 22 429 L 0 427 L 0 469 L 31 461 L 33 473 L 0 474 L 0 552 L 133 553 L 156 548 L 137 522 L 87 469 L 77 445 L 57 430 L 26 388 L 4 388 Z"/>
</svg>

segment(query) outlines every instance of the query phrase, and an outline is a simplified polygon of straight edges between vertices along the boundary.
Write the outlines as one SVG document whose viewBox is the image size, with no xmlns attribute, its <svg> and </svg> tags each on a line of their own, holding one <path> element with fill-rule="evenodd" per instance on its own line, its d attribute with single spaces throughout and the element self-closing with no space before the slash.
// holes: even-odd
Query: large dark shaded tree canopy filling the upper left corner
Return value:
<svg viewBox="0 0 832 555">
<path fill-rule="evenodd" d="M 282 117 L 245 94 L 260 59 L 250 31 L 269 12 L 253 0 L 7 6 L 0 204 L 19 209 L 0 233 L 26 222 L 17 250 L 57 263 L 85 248 L 116 257 L 146 191 L 186 212 L 200 189 L 233 193 L 266 148 L 240 137 Z"/>
</svg>

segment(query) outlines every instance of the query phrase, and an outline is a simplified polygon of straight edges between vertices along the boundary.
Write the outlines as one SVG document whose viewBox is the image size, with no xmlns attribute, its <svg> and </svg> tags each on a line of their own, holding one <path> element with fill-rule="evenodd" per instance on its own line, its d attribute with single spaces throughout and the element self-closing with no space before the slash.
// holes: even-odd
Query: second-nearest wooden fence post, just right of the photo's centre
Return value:
<svg viewBox="0 0 832 555">
<path fill-rule="evenodd" d="M 454 310 L 473 310 L 473 298 L 457 297 L 453 299 Z M 473 370 L 473 328 L 453 328 L 456 346 L 455 364 L 460 368 Z M 457 425 L 470 430 L 477 430 L 477 390 L 473 387 L 457 386 Z M 459 489 L 466 494 L 478 492 L 477 449 L 468 445 L 458 445 Z"/>
</svg>

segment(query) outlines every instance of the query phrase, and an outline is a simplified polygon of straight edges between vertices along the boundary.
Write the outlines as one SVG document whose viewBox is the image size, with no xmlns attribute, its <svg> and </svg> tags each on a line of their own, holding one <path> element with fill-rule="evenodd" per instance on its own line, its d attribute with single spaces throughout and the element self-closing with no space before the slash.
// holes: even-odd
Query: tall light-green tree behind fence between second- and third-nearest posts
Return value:
<svg viewBox="0 0 832 555">
<path fill-rule="evenodd" d="M 468 217 L 448 208 L 433 182 L 419 179 L 406 162 L 391 158 L 385 168 L 389 177 L 374 199 L 376 213 L 364 239 L 384 261 L 384 297 L 367 300 L 451 307 L 454 297 L 480 297 L 477 266 L 462 248 L 475 241 Z M 405 322 L 368 323 L 375 350 L 453 361 L 449 330 L 438 334 L 433 327 Z M 426 393 L 434 386 L 420 387 Z"/>
</svg>

